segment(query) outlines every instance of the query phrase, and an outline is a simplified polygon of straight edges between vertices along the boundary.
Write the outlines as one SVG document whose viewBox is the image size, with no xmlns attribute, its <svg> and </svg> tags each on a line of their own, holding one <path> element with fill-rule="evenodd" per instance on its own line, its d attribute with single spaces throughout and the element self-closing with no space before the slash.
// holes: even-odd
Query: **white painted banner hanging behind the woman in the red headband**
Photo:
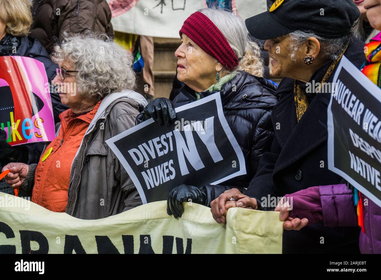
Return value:
<svg viewBox="0 0 381 280">
<path fill-rule="evenodd" d="M 201 8 L 219 6 L 247 19 L 267 10 L 266 0 L 107 0 L 115 31 L 180 38 L 182 23 Z"/>
</svg>

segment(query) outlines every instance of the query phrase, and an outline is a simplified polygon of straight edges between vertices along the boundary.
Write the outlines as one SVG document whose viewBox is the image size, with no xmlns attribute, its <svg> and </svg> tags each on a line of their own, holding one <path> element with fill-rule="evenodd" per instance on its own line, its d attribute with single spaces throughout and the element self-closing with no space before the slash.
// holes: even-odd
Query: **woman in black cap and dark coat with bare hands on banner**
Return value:
<svg viewBox="0 0 381 280">
<path fill-rule="evenodd" d="M 277 89 L 282 99 L 272 110 L 279 129 L 245 194 L 232 189 L 211 203 L 216 219 L 230 207 L 272 210 L 274 205 L 263 199 L 268 195 L 344 181 L 327 168 L 327 106 L 341 57 L 362 66 L 364 45 L 351 34 L 359 16 L 352 0 L 277 0 L 269 11 L 246 20 L 252 36 L 267 40 L 273 73 L 285 77 Z M 304 228 L 284 232 L 283 253 L 359 252 L 358 227 L 291 222 Z"/>
</svg>

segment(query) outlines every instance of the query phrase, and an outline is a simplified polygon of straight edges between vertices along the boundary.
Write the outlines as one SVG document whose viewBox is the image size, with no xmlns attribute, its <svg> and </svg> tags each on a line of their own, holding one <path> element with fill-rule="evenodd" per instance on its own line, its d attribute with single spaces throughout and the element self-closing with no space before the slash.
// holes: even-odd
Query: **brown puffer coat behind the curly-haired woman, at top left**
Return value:
<svg viewBox="0 0 381 280">
<path fill-rule="evenodd" d="M 32 13 L 30 36 L 40 41 L 49 54 L 63 31 L 82 33 L 90 29 L 114 37 L 106 0 L 34 0 Z"/>
</svg>

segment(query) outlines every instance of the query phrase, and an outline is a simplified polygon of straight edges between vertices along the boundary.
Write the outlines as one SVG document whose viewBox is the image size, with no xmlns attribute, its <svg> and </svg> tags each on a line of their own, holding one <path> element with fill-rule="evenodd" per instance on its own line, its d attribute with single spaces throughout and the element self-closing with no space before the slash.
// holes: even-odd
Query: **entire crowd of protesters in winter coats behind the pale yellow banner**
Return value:
<svg viewBox="0 0 381 280">
<path fill-rule="evenodd" d="M 220 185 L 174 186 L 168 215 L 181 217 L 189 199 L 210 207 L 218 223 L 226 223 L 232 207 L 279 211 L 283 253 L 381 253 L 381 208 L 319 168 L 328 162 L 331 94 L 306 90 L 313 81 L 332 82 L 343 56 L 381 87 L 380 0 L 277 0 L 245 21 L 231 11 L 201 9 L 179 30 L 174 55 L 181 88 L 172 100 L 149 104 L 134 91 L 133 56 L 114 42 L 107 2 L 47 2 L 54 1 L 0 0 L 0 56 L 35 58 L 48 80 L 61 85 L 51 92 L 53 141 L 10 146 L 0 131 L 9 193 L 16 189 L 80 219 L 139 206 L 138 190 L 105 141 L 149 118 L 169 126 L 174 108 L 220 93 L 247 173 Z M 61 15 L 50 17 L 55 8 Z M 272 73 L 283 77 L 279 85 L 263 77 L 261 46 L 253 38 L 265 41 Z M 263 205 L 268 195 L 293 197 L 292 210 L 284 199 L 277 207 Z M 357 211 L 364 199 L 369 204 Z"/>
</svg>

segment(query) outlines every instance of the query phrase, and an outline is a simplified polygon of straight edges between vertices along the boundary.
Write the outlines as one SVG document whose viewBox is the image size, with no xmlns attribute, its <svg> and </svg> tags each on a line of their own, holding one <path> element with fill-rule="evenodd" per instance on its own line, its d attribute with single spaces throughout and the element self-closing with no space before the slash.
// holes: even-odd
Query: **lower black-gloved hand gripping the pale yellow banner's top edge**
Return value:
<svg viewBox="0 0 381 280">
<path fill-rule="evenodd" d="M 173 188 L 167 199 L 167 213 L 173 215 L 173 218 L 177 219 L 181 217 L 184 212 L 183 202 L 197 203 L 205 205 L 207 201 L 207 195 L 202 191 L 202 187 L 189 186 L 182 184 L 181 186 Z"/>
</svg>

